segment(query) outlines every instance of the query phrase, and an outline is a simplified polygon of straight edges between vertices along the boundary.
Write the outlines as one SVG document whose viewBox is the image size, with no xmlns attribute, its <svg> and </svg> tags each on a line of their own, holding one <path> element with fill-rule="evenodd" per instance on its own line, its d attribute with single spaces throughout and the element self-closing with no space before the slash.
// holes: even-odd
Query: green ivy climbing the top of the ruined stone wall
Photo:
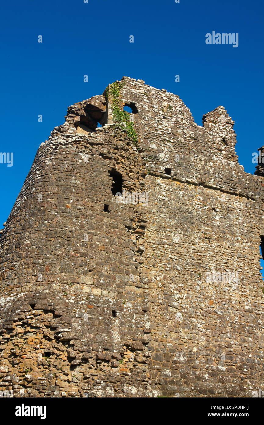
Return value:
<svg viewBox="0 0 264 425">
<path fill-rule="evenodd" d="M 106 89 L 106 96 L 111 102 L 112 113 L 114 122 L 117 124 L 125 123 L 125 126 L 120 125 L 123 129 L 126 130 L 129 139 L 131 139 L 134 143 L 137 143 L 138 136 L 134 129 L 134 123 L 129 121 L 130 114 L 127 111 L 123 111 L 121 108 L 121 100 L 120 98 L 120 89 L 122 88 L 122 82 L 113 82 Z"/>
</svg>

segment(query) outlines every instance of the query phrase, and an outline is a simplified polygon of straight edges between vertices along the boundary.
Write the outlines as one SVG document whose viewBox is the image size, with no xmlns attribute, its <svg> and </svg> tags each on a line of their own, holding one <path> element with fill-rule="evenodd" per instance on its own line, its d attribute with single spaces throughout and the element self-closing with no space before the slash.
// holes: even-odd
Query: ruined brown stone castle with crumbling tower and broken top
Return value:
<svg viewBox="0 0 264 425">
<path fill-rule="evenodd" d="M 69 107 L 0 237 L 0 391 L 264 389 L 264 177 L 233 124 L 128 77 Z"/>
</svg>

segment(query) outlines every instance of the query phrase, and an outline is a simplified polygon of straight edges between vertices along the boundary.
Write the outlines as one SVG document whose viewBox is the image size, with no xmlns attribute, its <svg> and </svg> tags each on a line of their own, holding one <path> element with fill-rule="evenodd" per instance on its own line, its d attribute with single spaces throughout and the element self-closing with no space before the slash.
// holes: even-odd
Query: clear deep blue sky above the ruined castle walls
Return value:
<svg viewBox="0 0 264 425">
<path fill-rule="evenodd" d="M 0 228 L 67 107 L 123 75 L 178 94 L 199 125 L 225 106 L 239 162 L 253 173 L 252 153 L 264 144 L 263 9 L 262 0 L 2 2 L 0 152 L 13 152 L 14 165 L 0 164 Z M 212 31 L 239 33 L 238 48 L 206 45 Z"/>
</svg>

